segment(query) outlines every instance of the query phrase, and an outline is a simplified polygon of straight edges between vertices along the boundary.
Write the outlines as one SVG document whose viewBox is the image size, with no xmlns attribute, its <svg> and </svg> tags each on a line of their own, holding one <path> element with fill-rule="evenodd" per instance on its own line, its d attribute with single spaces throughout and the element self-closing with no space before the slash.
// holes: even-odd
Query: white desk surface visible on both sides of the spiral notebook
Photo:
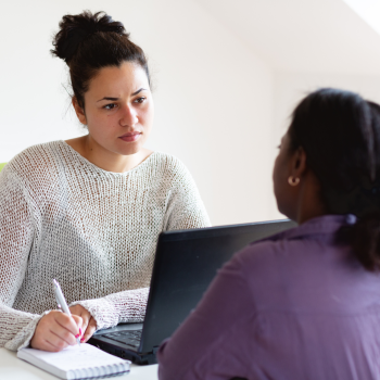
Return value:
<svg viewBox="0 0 380 380">
<path fill-rule="evenodd" d="M 130 366 L 130 372 L 118 376 L 116 379 L 129 380 L 157 380 L 157 365 L 152 366 Z M 17 358 L 15 352 L 0 349 L 0 379 L 1 380 L 56 380 L 42 369 Z"/>
</svg>

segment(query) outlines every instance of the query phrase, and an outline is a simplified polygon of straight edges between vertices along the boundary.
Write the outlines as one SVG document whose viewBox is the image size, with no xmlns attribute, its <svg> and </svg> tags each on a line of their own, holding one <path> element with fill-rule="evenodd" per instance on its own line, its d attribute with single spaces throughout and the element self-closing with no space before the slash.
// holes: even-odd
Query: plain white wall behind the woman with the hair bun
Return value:
<svg viewBox="0 0 380 380">
<path fill-rule="evenodd" d="M 270 219 L 270 67 L 193 1 L 21 0 L 2 4 L 0 162 L 28 145 L 84 134 L 50 56 L 65 13 L 105 10 L 150 59 L 156 122 L 149 147 L 192 173 L 214 225 Z"/>
</svg>

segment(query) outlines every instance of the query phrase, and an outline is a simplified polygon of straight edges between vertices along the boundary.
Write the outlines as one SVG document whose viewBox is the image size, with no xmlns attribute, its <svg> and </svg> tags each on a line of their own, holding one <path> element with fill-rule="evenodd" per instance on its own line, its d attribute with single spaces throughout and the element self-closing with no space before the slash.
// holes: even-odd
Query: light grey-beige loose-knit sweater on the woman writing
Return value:
<svg viewBox="0 0 380 380">
<path fill-rule="evenodd" d="M 64 141 L 26 149 L 0 173 L 0 346 L 29 344 L 56 308 L 53 278 L 98 329 L 142 321 L 160 232 L 207 226 L 194 181 L 168 154 L 112 173 Z"/>
</svg>

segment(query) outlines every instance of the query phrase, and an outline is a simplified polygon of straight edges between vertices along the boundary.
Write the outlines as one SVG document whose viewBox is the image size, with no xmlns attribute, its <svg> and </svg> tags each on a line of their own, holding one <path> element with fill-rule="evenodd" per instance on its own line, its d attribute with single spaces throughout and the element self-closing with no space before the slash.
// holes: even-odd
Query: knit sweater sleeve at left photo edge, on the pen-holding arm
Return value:
<svg viewBox="0 0 380 380">
<path fill-rule="evenodd" d="M 29 344 L 40 315 L 13 309 L 25 277 L 34 223 L 25 188 L 7 165 L 0 174 L 0 347 Z"/>
</svg>

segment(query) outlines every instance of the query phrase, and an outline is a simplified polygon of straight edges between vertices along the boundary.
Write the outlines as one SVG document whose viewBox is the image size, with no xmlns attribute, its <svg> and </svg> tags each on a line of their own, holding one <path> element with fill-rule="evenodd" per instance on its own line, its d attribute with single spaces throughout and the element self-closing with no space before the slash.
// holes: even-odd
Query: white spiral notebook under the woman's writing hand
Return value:
<svg viewBox="0 0 380 380">
<path fill-rule="evenodd" d="M 97 379 L 129 372 L 129 360 L 81 343 L 61 352 L 22 349 L 17 357 L 61 379 Z"/>
</svg>

